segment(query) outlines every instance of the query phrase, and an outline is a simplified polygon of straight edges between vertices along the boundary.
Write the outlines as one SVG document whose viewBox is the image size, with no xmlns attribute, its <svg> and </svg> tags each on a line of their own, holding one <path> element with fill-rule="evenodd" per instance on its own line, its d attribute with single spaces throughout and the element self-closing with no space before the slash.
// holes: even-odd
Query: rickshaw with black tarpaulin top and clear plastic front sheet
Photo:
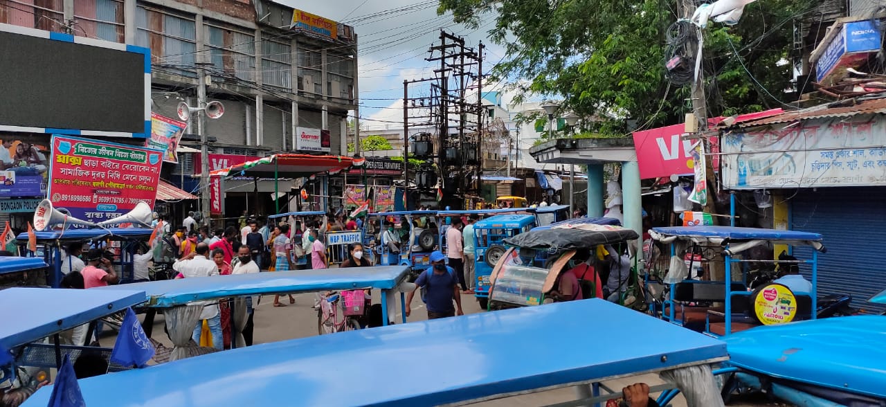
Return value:
<svg viewBox="0 0 886 407">
<path fill-rule="evenodd" d="M 570 261 L 579 250 L 596 252 L 598 247 L 626 243 L 638 237 L 635 231 L 620 226 L 584 223 L 533 229 L 504 239 L 510 248 L 495 262 L 489 277 L 489 309 L 525 307 L 550 301 L 548 294 L 556 289 L 556 282 L 563 272 L 571 272 L 568 271 L 572 270 Z M 630 273 L 626 277 L 633 276 L 633 270 L 625 271 Z M 597 270 L 594 272 L 597 274 Z M 579 286 L 582 281 L 587 282 L 587 286 L 581 287 L 587 297 L 595 296 L 598 288 L 602 290 L 596 285 L 605 278 L 596 277 L 578 278 Z M 629 278 L 625 280 L 630 284 Z"/>
</svg>

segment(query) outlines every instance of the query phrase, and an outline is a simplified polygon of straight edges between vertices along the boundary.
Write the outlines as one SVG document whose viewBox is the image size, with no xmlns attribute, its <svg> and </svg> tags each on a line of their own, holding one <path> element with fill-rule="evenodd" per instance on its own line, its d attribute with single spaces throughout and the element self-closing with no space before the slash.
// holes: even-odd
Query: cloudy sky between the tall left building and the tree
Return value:
<svg viewBox="0 0 886 407">
<path fill-rule="evenodd" d="M 439 43 L 439 29 L 462 35 L 466 45 L 486 45 L 484 73 L 504 56 L 501 46 L 491 43 L 487 31 L 494 27 L 489 16 L 478 29 L 455 24 L 449 14 L 437 14 L 437 2 L 427 0 L 276 0 L 293 8 L 310 12 L 354 27 L 358 35 L 358 73 L 361 100 L 361 128 L 385 126 L 385 121 L 403 121 L 403 80 L 430 78 L 433 65 L 428 62 L 428 49 Z M 385 15 L 377 13 L 399 10 Z M 494 90 L 484 87 L 486 91 Z M 497 87 L 501 90 L 501 86 Z M 429 96 L 429 85 L 416 85 L 410 97 Z M 507 101 L 509 98 L 505 98 Z M 393 127 L 396 123 L 387 123 Z M 401 126 L 401 125 L 400 125 Z"/>
</svg>

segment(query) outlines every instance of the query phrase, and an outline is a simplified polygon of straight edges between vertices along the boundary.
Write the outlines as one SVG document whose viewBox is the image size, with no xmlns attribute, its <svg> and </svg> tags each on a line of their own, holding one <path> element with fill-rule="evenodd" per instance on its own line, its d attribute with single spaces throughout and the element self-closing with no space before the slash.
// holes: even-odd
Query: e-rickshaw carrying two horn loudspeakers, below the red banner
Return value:
<svg viewBox="0 0 886 407">
<path fill-rule="evenodd" d="M 153 230 L 148 228 L 102 228 L 102 229 L 66 229 L 64 231 L 35 231 L 38 254 L 43 252 L 43 259 L 50 265 L 46 276 L 46 285 L 58 288 L 64 277 L 61 270 L 62 248 L 74 242 L 89 242 L 91 247 L 113 248 L 116 252 L 114 265 L 120 267 L 120 283 L 132 282 L 133 256 L 138 247 L 147 248 L 146 242 L 151 239 Z M 19 245 L 27 245 L 27 233 L 20 233 L 16 238 Z M 119 250 L 118 250 L 119 249 Z"/>
</svg>

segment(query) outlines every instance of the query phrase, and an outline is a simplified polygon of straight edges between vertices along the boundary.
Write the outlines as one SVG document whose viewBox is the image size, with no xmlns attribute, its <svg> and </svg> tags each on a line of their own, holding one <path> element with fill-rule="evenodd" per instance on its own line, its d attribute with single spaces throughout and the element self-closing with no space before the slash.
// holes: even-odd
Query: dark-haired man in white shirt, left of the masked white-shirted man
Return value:
<svg viewBox="0 0 886 407">
<path fill-rule="evenodd" d="M 219 274 L 218 266 L 207 257 L 209 254 L 209 245 L 199 243 L 194 248 L 194 252 L 188 254 L 181 260 L 172 264 L 172 270 L 178 271 L 183 278 L 198 278 L 217 276 Z M 200 319 L 197 326 L 194 327 L 194 333 L 191 338 L 200 343 L 200 334 L 203 331 L 203 320 L 205 319 L 209 325 L 209 332 L 213 337 L 213 348 L 221 350 L 224 348 L 224 340 L 221 336 L 221 313 L 219 312 L 219 304 L 216 301 L 202 302 L 203 312 L 200 313 Z"/>
</svg>

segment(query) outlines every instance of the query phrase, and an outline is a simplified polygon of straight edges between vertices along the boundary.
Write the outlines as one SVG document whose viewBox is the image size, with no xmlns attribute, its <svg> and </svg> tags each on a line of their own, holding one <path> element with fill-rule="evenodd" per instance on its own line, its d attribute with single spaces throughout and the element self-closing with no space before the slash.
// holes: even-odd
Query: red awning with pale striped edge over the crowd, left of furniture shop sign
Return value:
<svg viewBox="0 0 886 407">
<path fill-rule="evenodd" d="M 298 178 L 327 171 L 335 173 L 352 163 L 351 157 L 338 155 L 275 154 L 214 171 L 213 175 Z"/>
</svg>

